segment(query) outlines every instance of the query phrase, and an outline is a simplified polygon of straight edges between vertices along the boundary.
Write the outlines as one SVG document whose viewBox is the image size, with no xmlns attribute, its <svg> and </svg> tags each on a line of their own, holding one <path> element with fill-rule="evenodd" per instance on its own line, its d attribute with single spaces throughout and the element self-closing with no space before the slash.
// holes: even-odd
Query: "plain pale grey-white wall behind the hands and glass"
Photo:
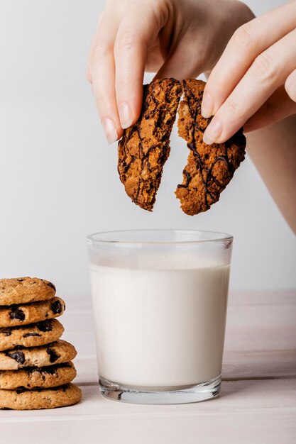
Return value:
<svg viewBox="0 0 296 444">
<path fill-rule="evenodd" d="M 248 1 L 261 13 L 280 1 Z M 187 149 L 174 134 L 155 211 L 131 204 L 89 84 L 89 42 L 103 1 L 0 2 L 0 274 L 87 294 L 85 235 L 119 228 L 204 228 L 235 237 L 231 286 L 296 284 L 295 236 L 251 161 L 218 204 L 186 216 L 173 191 Z"/>
</svg>

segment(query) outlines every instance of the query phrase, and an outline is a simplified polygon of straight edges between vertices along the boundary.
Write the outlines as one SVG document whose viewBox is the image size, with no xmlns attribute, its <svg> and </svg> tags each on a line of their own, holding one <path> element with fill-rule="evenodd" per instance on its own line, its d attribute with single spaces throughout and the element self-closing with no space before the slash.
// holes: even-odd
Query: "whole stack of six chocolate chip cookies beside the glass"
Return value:
<svg viewBox="0 0 296 444">
<path fill-rule="evenodd" d="M 54 409 L 81 399 L 75 347 L 60 340 L 65 302 L 38 278 L 0 279 L 0 409 Z"/>
</svg>

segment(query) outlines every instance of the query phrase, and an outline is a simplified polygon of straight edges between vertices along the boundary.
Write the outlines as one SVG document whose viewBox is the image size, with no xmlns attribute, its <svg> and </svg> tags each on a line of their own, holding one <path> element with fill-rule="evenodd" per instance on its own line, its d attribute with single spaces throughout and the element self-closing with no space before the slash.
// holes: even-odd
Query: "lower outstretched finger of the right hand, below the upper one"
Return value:
<svg viewBox="0 0 296 444">
<path fill-rule="evenodd" d="M 212 118 L 204 142 L 223 143 L 262 106 L 296 68 L 296 29 L 259 55 Z"/>
</svg>

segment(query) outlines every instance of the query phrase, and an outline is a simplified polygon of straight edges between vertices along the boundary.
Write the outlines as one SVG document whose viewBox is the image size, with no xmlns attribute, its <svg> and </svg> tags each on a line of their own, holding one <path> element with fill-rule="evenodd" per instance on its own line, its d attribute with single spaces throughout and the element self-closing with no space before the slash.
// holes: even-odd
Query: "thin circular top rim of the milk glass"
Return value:
<svg viewBox="0 0 296 444">
<path fill-rule="evenodd" d="M 120 233 L 175 233 L 175 234 L 185 234 L 192 233 L 197 234 L 207 234 L 212 235 L 212 238 L 208 239 L 192 239 L 192 240 L 119 240 L 115 238 L 115 235 Z M 114 235 L 114 238 L 107 236 Z M 105 237 L 105 238 L 104 238 Z M 219 243 L 219 242 L 231 242 L 234 236 L 228 233 L 223 233 L 219 231 L 209 231 L 209 230 L 185 230 L 182 228 L 142 228 L 142 229 L 129 229 L 129 230 L 111 230 L 111 231 L 99 231 L 97 233 L 92 233 L 87 235 L 87 243 L 90 244 L 112 244 L 112 245 L 198 245 L 204 243 Z"/>
</svg>

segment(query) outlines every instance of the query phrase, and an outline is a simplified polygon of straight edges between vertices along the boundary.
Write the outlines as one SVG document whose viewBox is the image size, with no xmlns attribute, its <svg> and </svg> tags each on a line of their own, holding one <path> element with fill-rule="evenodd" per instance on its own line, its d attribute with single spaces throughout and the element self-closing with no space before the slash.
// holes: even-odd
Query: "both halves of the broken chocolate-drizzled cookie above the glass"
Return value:
<svg viewBox="0 0 296 444">
<path fill-rule="evenodd" d="M 245 156 L 246 138 L 239 130 L 225 143 L 206 145 L 204 130 L 211 118 L 201 114 L 202 80 L 154 80 L 145 85 L 143 108 L 138 121 L 124 131 L 119 140 L 118 170 L 126 194 L 148 211 L 153 210 L 163 166 L 170 154 L 170 133 L 180 96 L 177 126 L 190 149 L 183 182 L 175 194 L 182 211 L 190 216 L 207 211 L 219 200 L 234 171 Z"/>
</svg>

